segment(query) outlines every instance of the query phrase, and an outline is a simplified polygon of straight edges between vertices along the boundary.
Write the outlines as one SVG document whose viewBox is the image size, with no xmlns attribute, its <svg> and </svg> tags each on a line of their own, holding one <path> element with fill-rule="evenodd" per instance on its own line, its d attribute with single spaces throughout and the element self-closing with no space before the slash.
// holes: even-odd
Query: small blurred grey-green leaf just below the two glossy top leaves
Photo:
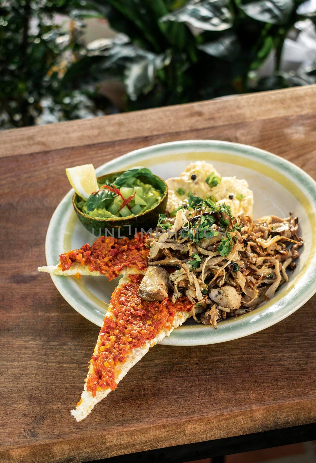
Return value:
<svg viewBox="0 0 316 463">
<path fill-rule="evenodd" d="M 198 45 L 199 50 L 207 55 L 216 56 L 226 61 L 235 61 L 240 54 L 238 37 L 234 32 L 226 32 L 213 42 Z"/>
</svg>

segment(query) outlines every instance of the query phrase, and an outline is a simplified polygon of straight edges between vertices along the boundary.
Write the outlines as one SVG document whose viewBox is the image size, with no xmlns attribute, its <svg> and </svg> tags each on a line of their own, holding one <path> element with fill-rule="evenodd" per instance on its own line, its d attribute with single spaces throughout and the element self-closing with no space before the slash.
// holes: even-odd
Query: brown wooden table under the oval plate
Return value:
<svg viewBox="0 0 316 463">
<path fill-rule="evenodd" d="M 316 178 L 315 108 L 310 86 L 0 132 L 1 462 L 84 462 L 316 421 L 314 297 L 246 338 L 155 346 L 77 423 L 70 410 L 99 329 L 37 271 L 69 190 L 65 167 L 213 138 L 272 151 Z"/>
</svg>

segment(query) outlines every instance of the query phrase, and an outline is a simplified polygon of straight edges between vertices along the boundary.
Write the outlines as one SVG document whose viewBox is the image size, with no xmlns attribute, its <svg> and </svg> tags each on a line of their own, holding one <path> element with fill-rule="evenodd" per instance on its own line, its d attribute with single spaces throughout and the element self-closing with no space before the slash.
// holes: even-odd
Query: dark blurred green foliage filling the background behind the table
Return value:
<svg viewBox="0 0 316 463">
<path fill-rule="evenodd" d="M 113 110 L 98 84 L 124 82 L 124 110 L 186 103 L 227 94 L 315 82 L 315 70 L 281 72 L 284 39 L 298 20 L 303 0 L 19 0 L 0 8 L 0 103 L 9 124 L 36 122 L 49 97 L 57 120 L 80 117 L 82 106 Z M 55 13 L 74 19 L 68 40 L 53 24 Z M 38 19 L 37 33 L 29 21 Z M 106 18 L 114 39 L 84 47 L 85 17 Z M 2 18 L 2 19 L 1 19 Z M 254 81 L 275 51 L 272 75 Z M 64 62 L 64 55 L 71 55 Z M 5 72 L 3 70 L 5 69 Z M 47 105 L 49 106 L 49 105 Z"/>
</svg>

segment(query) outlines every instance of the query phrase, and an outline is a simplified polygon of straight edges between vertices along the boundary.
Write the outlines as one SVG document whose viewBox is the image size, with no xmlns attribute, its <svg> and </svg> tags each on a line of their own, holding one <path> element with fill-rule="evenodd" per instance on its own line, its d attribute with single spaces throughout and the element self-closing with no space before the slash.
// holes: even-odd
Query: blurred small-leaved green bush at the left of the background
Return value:
<svg viewBox="0 0 316 463">
<path fill-rule="evenodd" d="M 84 6 L 83 6 L 84 5 Z M 56 13 L 68 27 L 54 23 Z M 0 5 L 0 124 L 33 125 L 47 113 L 48 120 L 80 117 L 96 112 L 96 91 L 66 88 L 63 76 L 77 60 L 81 47 L 77 21 L 99 17 L 77 0 L 10 0 Z M 71 23 L 71 18 L 76 22 Z M 70 27 L 69 27 L 70 25 Z M 100 97 L 98 97 L 100 100 Z M 105 102 L 108 104 L 108 101 Z"/>
</svg>

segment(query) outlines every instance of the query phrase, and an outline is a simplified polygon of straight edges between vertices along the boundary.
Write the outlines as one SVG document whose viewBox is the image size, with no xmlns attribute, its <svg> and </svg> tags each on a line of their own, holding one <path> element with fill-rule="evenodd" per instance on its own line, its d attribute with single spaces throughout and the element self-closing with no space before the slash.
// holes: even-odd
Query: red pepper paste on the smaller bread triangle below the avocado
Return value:
<svg viewBox="0 0 316 463">
<path fill-rule="evenodd" d="M 64 271 L 79 262 L 88 265 L 91 272 L 97 270 L 106 275 L 111 281 L 123 268 L 146 269 L 149 252 L 145 246 L 146 238 L 140 232 L 132 239 L 101 236 L 91 246 L 87 243 L 80 249 L 60 254 L 58 267 Z"/>
</svg>

